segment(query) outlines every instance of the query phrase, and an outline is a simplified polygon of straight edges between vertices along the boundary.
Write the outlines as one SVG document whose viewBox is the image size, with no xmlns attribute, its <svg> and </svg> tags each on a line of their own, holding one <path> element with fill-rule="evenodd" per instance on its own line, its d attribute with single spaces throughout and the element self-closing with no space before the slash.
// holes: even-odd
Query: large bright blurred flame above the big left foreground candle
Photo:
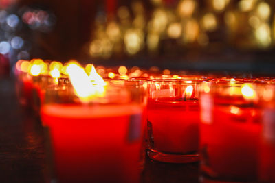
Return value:
<svg viewBox="0 0 275 183">
<path fill-rule="evenodd" d="M 106 85 L 104 80 L 98 76 L 91 77 L 87 75 L 83 67 L 76 63 L 71 63 L 67 66 L 69 80 L 72 82 L 76 95 L 83 103 L 88 103 L 94 97 L 104 95 Z M 103 82 L 102 82 L 103 81 Z"/>
</svg>

